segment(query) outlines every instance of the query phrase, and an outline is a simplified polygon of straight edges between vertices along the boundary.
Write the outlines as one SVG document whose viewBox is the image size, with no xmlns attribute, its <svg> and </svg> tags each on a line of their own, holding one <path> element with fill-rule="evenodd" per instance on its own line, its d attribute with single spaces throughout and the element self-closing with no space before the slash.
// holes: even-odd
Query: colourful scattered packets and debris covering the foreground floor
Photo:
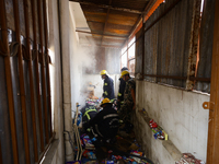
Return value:
<svg viewBox="0 0 219 164">
<path fill-rule="evenodd" d="M 135 140 L 134 133 L 127 133 L 126 138 L 116 136 L 114 141 L 96 142 L 88 134 L 81 134 L 83 148 L 80 161 L 67 162 L 67 164 L 153 164 L 147 159 Z M 76 154 L 78 148 L 76 148 Z"/>
</svg>

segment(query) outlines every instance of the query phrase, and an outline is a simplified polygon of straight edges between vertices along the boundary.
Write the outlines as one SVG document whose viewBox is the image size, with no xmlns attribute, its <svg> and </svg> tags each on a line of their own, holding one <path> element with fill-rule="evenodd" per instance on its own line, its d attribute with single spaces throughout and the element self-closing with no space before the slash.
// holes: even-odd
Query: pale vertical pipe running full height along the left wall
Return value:
<svg viewBox="0 0 219 164">
<path fill-rule="evenodd" d="M 62 73 L 62 108 L 64 108 L 64 129 L 72 137 L 71 117 L 71 79 L 70 79 L 70 48 L 69 48 L 69 1 L 58 0 L 59 8 L 59 35 L 60 35 L 60 56 Z M 73 161 L 73 150 L 69 142 L 69 137 L 65 133 L 66 161 Z"/>
</svg>

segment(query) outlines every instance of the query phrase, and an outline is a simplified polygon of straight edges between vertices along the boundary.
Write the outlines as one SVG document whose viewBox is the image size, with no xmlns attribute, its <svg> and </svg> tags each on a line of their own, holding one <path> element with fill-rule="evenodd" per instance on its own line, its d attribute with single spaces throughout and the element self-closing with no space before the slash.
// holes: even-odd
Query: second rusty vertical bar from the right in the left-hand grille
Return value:
<svg viewBox="0 0 219 164">
<path fill-rule="evenodd" d="M 42 21 L 42 10 L 41 10 L 41 0 L 37 0 L 37 11 L 38 11 L 38 28 L 39 28 L 39 40 L 41 40 L 41 49 L 42 49 L 42 80 L 43 80 L 43 97 L 44 97 L 44 112 L 45 112 L 45 133 L 46 133 L 46 143 L 49 141 L 48 134 L 48 116 L 47 116 L 47 105 L 46 105 L 46 79 L 45 79 L 45 57 L 44 57 L 44 42 L 43 42 L 43 21 Z"/>
</svg>

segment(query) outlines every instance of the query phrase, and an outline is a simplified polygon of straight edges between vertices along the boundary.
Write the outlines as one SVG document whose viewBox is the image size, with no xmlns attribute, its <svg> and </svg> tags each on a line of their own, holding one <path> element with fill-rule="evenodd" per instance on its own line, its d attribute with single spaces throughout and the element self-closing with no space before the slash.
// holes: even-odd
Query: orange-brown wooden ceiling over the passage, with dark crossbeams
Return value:
<svg viewBox="0 0 219 164">
<path fill-rule="evenodd" d="M 69 0 L 79 2 L 96 46 L 122 48 L 155 0 Z"/>
</svg>

